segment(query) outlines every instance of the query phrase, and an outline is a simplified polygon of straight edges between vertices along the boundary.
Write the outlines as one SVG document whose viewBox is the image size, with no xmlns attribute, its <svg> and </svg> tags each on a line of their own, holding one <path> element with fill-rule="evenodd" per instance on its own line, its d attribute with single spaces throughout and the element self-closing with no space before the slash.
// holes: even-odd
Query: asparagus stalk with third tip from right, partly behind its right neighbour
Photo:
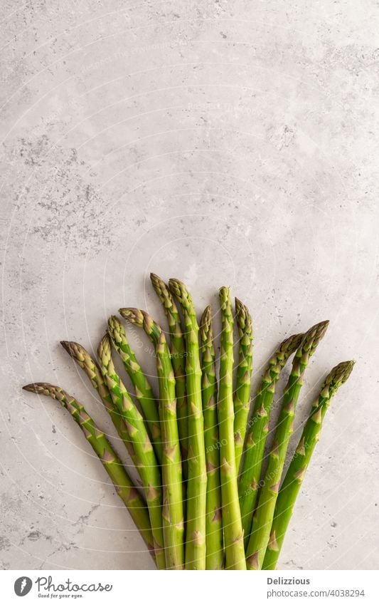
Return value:
<svg viewBox="0 0 379 605">
<path fill-rule="evenodd" d="M 270 358 L 262 377 L 260 389 L 255 398 L 254 411 L 248 423 L 248 434 L 245 445 L 245 458 L 242 463 L 238 493 L 242 527 L 244 530 L 245 548 L 249 542 L 252 527 L 252 514 L 257 502 L 260 475 L 262 472 L 265 443 L 269 431 L 269 415 L 272 400 L 280 373 L 294 351 L 297 350 L 303 334 L 294 334 L 286 338 Z"/>
</svg>

